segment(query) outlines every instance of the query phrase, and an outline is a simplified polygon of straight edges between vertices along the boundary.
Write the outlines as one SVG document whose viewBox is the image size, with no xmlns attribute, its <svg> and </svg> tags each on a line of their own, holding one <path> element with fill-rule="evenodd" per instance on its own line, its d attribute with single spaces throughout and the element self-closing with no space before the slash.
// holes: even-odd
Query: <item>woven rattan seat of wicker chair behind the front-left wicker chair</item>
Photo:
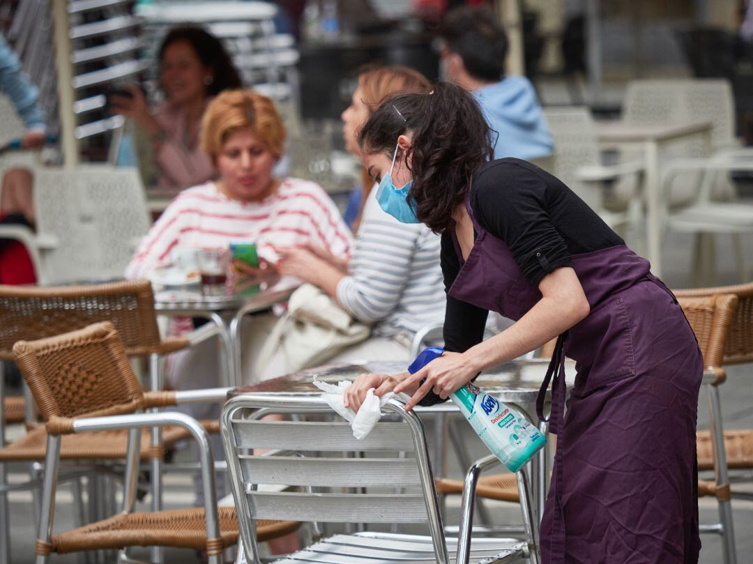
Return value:
<svg viewBox="0 0 753 564">
<path fill-rule="evenodd" d="M 177 427 L 164 427 L 163 446 L 158 452 L 151 450 L 151 439 L 142 434 L 141 458 L 153 455 L 163 458 L 164 448 L 187 439 L 187 431 Z M 67 434 L 62 437 L 60 458 L 62 460 L 120 460 L 126 457 L 128 431 L 98 431 L 96 433 Z M 38 427 L 29 431 L 8 447 L 0 449 L 0 460 L 44 460 L 47 452 L 47 430 Z"/>
</svg>

